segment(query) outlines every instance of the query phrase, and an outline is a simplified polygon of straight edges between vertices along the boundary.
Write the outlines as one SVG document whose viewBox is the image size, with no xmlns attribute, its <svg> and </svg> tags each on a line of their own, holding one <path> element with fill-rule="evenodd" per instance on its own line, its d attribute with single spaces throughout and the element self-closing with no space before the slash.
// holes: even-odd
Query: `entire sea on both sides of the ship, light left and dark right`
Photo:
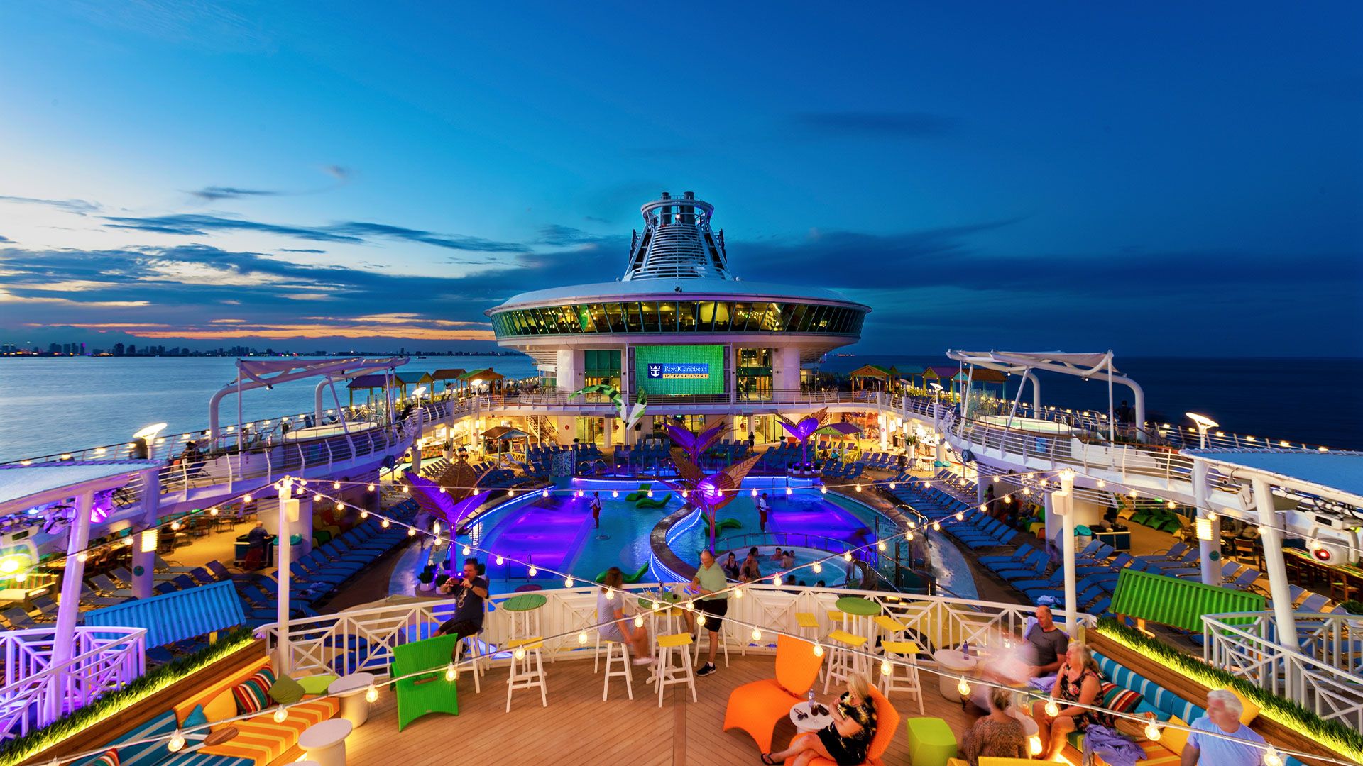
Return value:
<svg viewBox="0 0 1363 766">
<path fill-rule="evenodd" d="M 938 356 L 857 354 L 829 357 L 822 368 L 946 363 Z M 168 423 L 168 433 L 204 428 L 209 398 L 234 378 L 233 365 L 230 357 L 0 357 L 0 461 L 114 444 L 151 423 Z M 442 367 L 492 367 L 510 378 L 536 373 L 525 356 L 413 358 L 403 369 Z M 1183 413 L 1198 412 L 1225 431 L 1363 448 L 1363 410 L 1353 399 L 1363 380 L 1360 358 L 1119 357 L 1116 367 L 1141 383 L 1150 417 L 1163 423 L 1184 423 Z M 298 380 L 247 391 L 244 416 L 308 412 L 313 386 Z M 1118 401 L 1130 398 L 1120 386 L 1114 391 Z M 1009 395 L 1014 393 L 1010 386 Z M 1043 403 L 1107 409 L 1107 386 L 1099 382 L 1043 375 L 1041 395 Z M 236 421 L 233 397 L 222 409 L 224 423 Z"/>
</svg>

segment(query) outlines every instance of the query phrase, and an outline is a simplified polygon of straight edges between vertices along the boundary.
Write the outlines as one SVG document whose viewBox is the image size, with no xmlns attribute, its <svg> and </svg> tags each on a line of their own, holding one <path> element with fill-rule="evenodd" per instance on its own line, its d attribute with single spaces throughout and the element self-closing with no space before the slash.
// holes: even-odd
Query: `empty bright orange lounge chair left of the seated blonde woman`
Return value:
<svg viewBox="0 0 1363 766">
<path fill-rule="evenodd" d="M 777 722 L 791 714 L 791 706 L 803 701 L 819 677 L 823 657 L 814 654 L 808 641 L 778 635 L 776 639 L 776 677 L 743 684 L 729 692 L 724 710 L 724 731 L 743 729 L 758 743 L 761 752 L 771 750 Z"/>
</svg>

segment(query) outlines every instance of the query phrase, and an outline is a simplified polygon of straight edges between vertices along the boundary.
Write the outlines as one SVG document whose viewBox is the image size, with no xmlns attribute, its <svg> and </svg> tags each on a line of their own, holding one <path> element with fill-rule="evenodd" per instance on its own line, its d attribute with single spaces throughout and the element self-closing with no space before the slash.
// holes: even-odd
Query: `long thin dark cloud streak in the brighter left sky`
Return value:
<svg viewBox="0 0 1363 766">
<path fill-rule="evenodd" d="M 211 232 L 260 232 L 264 234 L 278 234 L 282 237 L 323 243 L 369 244 L 372 240 L 379 239 L 403 240 L 447 249 L 474 252 L 526 251 L 526 245 L 519 243 L 499 243 L 495 240 L 463 234 L 440 234 L 423 229 L 409 229 L 405 226 L 373 224 L 368 221 L 345 221 L 326 226 L 296 226 L 196 213 L 177 213 L 173 215 L 151 215 L 143 218 L 106 215 L 104 219 L 108 221 L 106 226 L 112 229 L 134 229 L 138 232 L 180 234 L 188 237 L 203 237 L 209 236 Z"/>
</svg>

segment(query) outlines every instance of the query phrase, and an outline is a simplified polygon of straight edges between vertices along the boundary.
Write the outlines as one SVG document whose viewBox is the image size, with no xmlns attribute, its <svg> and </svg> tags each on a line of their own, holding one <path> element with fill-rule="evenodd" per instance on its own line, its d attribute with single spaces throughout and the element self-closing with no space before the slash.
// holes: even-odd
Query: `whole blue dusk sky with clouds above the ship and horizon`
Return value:
<svg viewBox="0 0 1363 766">
<path fill-rule="evenodd" d="M 0 342 L 487 348 L 716 204 L 864 353 L 1363 356 L 1358 3 L 0 4 Z"/>
</svg>

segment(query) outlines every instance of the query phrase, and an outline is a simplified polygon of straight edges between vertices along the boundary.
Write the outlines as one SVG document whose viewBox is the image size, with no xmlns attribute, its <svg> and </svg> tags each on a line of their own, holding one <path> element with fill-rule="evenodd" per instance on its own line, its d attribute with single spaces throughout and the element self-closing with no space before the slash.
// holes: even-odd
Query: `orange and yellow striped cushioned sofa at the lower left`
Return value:
<svg viewBox="0 0 1363 766">
<path fill-rule="evenodd" d="M 236 721 L 230 725 L 237 729 L 237 736 L 222 744 L 195 748 L 195 740 L 202 740 L 207 735 L 204 729 L 199 729 L 198 736 L 194 732 L 185 733 L 187 744 L 180 752 L 170 752 L 165 740 L 120 747 L 120 743 L 124 741 L 172 733 L 194 713 L 195 707 L 213 710 L 214 701 L 221 702 L 224 694 L 230 696 L 237 684 L 269 667 L 270 658 L 262 657 L 217 684 L 176 703 L 174 709 L 166 710 L 123 735 L 109 744 L 109 747 L 119 750 L 119 766 L 266 766 L 289 752 L 298 743 L 298 735 L 308 726 L 326 721 L 341 710 L 337 699 L 320 698 L 290 706 L 289 717 L 284 722 L 274 721 L 274 707 L 267 707 L 252 718 Z M 211 717 L 222 720 L 236 716 L 234 705 L 229 710 L 232 710 L 230 714 L 214 713 Z M 218 728 L 213 726 L 213 731 Z M 79 762 L 75 766 L 94 766 L 95 761 L 98 758 Z"/>
</svg>

